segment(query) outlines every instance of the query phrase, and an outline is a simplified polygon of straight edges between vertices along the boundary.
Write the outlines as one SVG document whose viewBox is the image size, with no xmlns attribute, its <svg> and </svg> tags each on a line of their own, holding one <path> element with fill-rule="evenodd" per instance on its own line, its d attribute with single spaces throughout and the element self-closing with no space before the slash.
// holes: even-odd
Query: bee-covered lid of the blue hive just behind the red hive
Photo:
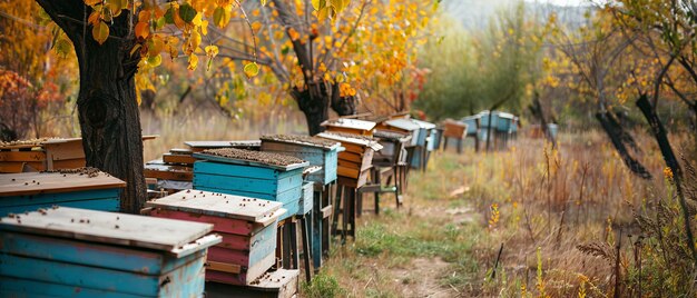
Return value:
<svg viewBox="0 0 697 298">
<path fill-rule="evenodd" d="M 286 155 L 234 148 L 208 149 L 194 153 L 194 157 L 217 162 L 264 167 L 284 171 L 310 166 L 308 161 Z"/>
</svg>

